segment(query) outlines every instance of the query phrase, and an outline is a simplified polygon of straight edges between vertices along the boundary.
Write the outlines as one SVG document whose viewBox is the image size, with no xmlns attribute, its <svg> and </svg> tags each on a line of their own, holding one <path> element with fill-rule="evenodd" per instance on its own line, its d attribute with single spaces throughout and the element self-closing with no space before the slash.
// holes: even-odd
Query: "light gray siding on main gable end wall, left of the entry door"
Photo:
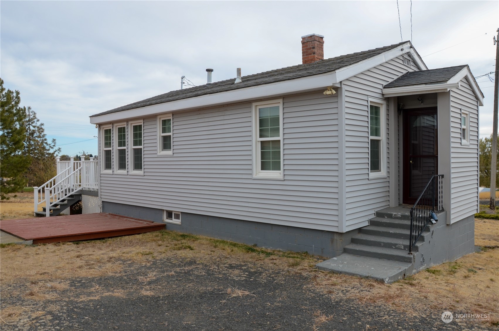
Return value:
<svg viewBox="0 0 499 331">
<path fill-rule="evenodd" d="M 412 62 L 411 62 L 412 63 Z M 404 64 L 398 56 L 342 82 L 345 88 L 345 185 L 346 185 L 346 228 L 351 230 L 367 225 L 375 211 L 390 205 L 390 127 L 389 109 L 386 105 L 382 125 L 386 137 L 386 173 L 373 178 L 369 171 L 369 97 L 384 100 L 382 88 L 388 82 L 417 67 Z M 394 128 L 396 129 L 396 128 Z M 393 132 L 397 137 L 396 132 Z M 398 160 L 393 160 L 396 164 Z M 393 173 L 398 176 L 398 172 Z M 370 179 L 371 178 L 371 179 Z"/>
</svg>

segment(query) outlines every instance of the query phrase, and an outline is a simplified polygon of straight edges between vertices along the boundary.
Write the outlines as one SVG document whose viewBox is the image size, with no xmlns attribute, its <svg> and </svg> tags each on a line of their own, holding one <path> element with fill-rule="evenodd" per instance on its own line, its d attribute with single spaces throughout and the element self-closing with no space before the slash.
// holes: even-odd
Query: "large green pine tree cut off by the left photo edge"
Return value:
<svg viewBox="0 0 499 331">
<path fill-rule="evenodd" d="M 5 89 L 0 78 L 0 92 L 0 198 L 4 200 L 26 185 L 23 174 L 30 159 L 23 154 L 26 112 L 19 107 L 19 91 Z"/>
</svg>

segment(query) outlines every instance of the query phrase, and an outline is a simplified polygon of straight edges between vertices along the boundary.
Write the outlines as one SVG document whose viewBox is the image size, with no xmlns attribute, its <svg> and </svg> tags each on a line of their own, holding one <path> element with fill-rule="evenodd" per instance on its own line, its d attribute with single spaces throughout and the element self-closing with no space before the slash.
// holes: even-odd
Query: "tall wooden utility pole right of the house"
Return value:
<svg viewBox="0 0 499 331">
<path fill-rule="evenodd" d="M 498 160 L 498 90 L 499 90 L 499 28 L 496 45 L 496 76 L 494 77 L 494 119 L 492 128 L 492 157 L 491 157 L 491 203 L 489 208 L 496 210 L 496 172 Z"/>
</svg>

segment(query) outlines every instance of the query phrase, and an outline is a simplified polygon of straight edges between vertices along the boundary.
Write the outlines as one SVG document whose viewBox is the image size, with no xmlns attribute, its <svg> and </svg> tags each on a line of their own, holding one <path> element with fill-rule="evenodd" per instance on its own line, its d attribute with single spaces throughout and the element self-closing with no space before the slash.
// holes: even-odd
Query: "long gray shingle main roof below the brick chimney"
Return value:
<svg viewBox="0 0 499 331">
<path fill-rule="evenodd" d="M 144 107 L 152 104 L 158 104 L 168 101 L 180 100 L 189 97 L 212 94 L 217 92 L 229 91 L 238 88 L 244 88 L 249 86 L 261 85 L 266 83 L 271 83 L 275 81 L 282 81 L 288 79 L 294 79 L 304 76 L 310 76 L 314 74 L 325 73 L 329 71 L 334 71 L 341 67 L 360 62 L 364 59 L 379 55 L 387 50 L 396 48 L 408 41 L 399 42 L 393 45 L 384 46 L 375 49 L 369 49 L 357 53 L 346 54 L 341 56 L 336 56 L 324 60 L 320 60 L 309 64 L 298 64 L 293 66 L 288 66 L 281 69 L 275 69 L 270 71 L 265 71 L 261 73 L 255 73 L 248 76 L 242 77 L 242 82 L 235 84 L 234 80 L 236 77 L 214 82 L 212 85 L 201 85 L 186 89 L 179 89 L 171 91 L 168 93 L 156 95 L 141 101 L 133 102 L 118 108 L 100 112 L 92 116 L 98 116 L 103 114 L 108 114 L 111 112 L 117 112 L 122 110 L 128 110 L 133 108 Z"/>
</svg>

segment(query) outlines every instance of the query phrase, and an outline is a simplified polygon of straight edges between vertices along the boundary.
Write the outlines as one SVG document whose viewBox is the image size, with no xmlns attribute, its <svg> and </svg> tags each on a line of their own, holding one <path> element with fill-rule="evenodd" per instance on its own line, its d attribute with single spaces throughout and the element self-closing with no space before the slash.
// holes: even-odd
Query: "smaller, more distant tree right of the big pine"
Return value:
<svg viewBox="0 0 499 331">
<path fill-rule="evenodd" d="M 26 118 L 26 143 L 24 153 L 31 159 L 31 165 L 25 173 L 28 184 L 40 186 L 55 176 L 55 155 L 60 148 L 55 147 L 55 139 L 48 142 L 43 123 L 36 117 L 31 107 L 23 107 Z"/>
</svg>

